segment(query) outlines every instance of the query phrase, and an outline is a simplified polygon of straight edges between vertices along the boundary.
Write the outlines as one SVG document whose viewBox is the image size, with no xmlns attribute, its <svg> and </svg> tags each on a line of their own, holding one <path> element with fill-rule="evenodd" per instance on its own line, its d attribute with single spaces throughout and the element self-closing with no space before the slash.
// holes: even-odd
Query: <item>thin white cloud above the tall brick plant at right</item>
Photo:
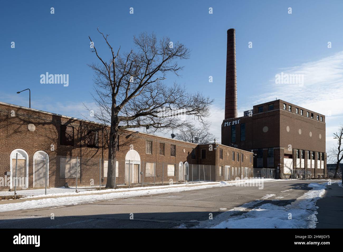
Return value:
<svg viewBox="0 0 343 252">
<path fill-rule="evenodd" d="M 303 74 L 304 85 L 275 84 L 276 74 Z M 266 84 L 265 90 L 254 97 L 255 104 L 274 100 L 275 97 L 308 108 L 326 116 L 326 149 L 335 143 L 332 134 L 343 122 L 343 51 L 320 60 L 307 62 L 290 68 L 280 69 Z M 251 99 L 249 99 L 251 100 Z M 244 110 L 252 108 L 251 104 L 243 104 Z"/>
</svg>

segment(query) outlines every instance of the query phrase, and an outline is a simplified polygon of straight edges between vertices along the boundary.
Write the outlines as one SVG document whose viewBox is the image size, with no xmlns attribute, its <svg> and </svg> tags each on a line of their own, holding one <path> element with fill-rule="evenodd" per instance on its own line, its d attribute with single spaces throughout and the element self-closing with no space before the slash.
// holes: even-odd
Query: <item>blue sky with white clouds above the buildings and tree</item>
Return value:
<svg viewBox="0 0 343 252">
<path fill-rule="evenodd" d="M 275 97 L 317 111 L 327 115 L 329 149 L 343 122 L 342 9 L 343 1 L 6 1 L 0 10 L 0 101 L 28 106 L 28 94 L 16 92 L 30 88 L 32 108 L 80 118 L 82 102 L 92 105 L 87 64 L 97 62 L 88 36 L 106 58 L 97 27 L 122 52 L 133 47 L 133 35 L 154 32 L 191 49 L 182 76 L 167 82 L 215 99 L 211 129 L 220 137 L 226 30 L 235 28 L 239 115 Z M 287 71 L 304 73 L 304 86 L 275 85 L 275 74 Z M 41 84 L 46 72 L 69 74 L 69 86 Z"/>
</svg>

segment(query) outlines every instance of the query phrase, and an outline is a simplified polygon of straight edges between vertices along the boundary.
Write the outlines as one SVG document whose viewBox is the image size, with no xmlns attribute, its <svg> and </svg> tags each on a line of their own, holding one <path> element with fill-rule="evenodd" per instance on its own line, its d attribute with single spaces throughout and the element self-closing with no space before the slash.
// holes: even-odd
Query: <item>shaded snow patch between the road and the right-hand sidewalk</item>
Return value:
<svg viewBox="0 0 343 252">
<path fill-rule="evenodd" d="M 229 217 L 228 215 L 227 220 L 210 228 L 315 228 L 318 213 L 315 203 L 324 195 L 326 184 L 310 183 L 308 187 L 312 189 L 291 204 L 286 206 L 262 204 L 239 216 Z M 256 205 L 256 202 L 261 201 L 250 202 L 250 206 Z M 247 204 L 238 211 L 246 211 Z"/>
</svg>

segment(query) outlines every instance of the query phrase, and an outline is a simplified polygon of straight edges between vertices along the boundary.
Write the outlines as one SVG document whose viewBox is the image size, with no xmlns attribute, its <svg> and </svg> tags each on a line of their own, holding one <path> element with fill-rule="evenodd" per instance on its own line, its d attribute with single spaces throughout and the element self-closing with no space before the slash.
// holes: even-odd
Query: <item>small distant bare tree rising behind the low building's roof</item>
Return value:
<svg viewBox="0 0 343 252">
<path fill-rule="evenodd" d="M 207 125 L 202 125 L 202 127 L 186 125 L 175 134 L 175 137 L 178 140 L 196 144 L 213 143 L 215 139 L 215 136 L 209 132 Z"/>
</svg>

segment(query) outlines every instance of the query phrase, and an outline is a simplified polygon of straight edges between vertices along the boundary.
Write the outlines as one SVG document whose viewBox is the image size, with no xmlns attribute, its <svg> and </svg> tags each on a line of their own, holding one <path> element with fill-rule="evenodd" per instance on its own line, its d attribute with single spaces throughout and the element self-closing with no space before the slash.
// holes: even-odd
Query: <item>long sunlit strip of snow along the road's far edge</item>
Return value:
<svg viewBox="0 0 343 252">
<path fill-rule="evenodd" d="M 264 182 L 275 181 L 275 179 L 251 179 L 249 183 L 254 182 L 256 184 L 263 184 Z M 81 203 L 89 203 L 100 200 L 113 200 L 118 198 L 132 197 L 132 196 L 143 196 L 147 194 L 159 194 L 159 193 L 173 193 L 190 190 L 205 189 L 211 187 L 226 187 L 226 186 L 245 186 L 246 180 L 238 180 L 232 182 L 211 182 L 206 184 L 192 185 L 192 184 L 177 184 L 177 185 L 164 185 L 156 187 L 143 187 L 143 188 L 127 188 L 127 189 L 108 189 L 97 191 L 97 194 L 86 195 L 94 193 L 94 191 L 84 191 L 80 193 L 70 193 L 70 195 L 80 196 L 65 196 L 66 194 L 50 194 L 50 195 L 37 195 L 26 197 L 22 199 L 35 198 L 41 196 L 65 196 L 58 198 L 46 198 L 39 200 L 29 200 L 20 203 L 9 203 L 0 204 L 0 212 L 15 211 L 23 209 L 43 208 L 43 207 L 56 207 L 65 205 L 77 205 Z"/>
</svg>

